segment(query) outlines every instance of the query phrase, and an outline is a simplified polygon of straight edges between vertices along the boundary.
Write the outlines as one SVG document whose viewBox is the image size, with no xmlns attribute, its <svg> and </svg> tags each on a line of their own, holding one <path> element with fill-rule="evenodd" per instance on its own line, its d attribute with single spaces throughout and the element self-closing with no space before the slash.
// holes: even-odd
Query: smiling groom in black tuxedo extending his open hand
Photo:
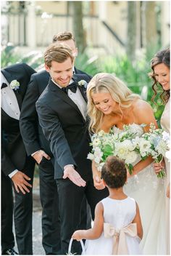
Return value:
<svg viewBox="0 0 171 256">
<path fill-rule="evenodd" d="M 45 68 L 51 79 L 36 103 L 39 122 L 50 142 L 54 155 L 54 177 L 59 192 L 62 253 L 66 254 L 72 232 L 80 228 L 80 212 L 86 195 L 91 215 L 98 201 L 108 195 L 106 189 L 97 191 L 93 186 L 91 151 L 86 118 L 86 84 L 84 74 L 72 73 L 74 57 L 71 49 L 51 45 L 44 54 Z M 70 85 L 70 81 L 74 81 Z M 68 95 L 67 95 L 68 93 Z M 80 254 L 80 244 L 75 241 L 73 252 Z"/>
</svg>

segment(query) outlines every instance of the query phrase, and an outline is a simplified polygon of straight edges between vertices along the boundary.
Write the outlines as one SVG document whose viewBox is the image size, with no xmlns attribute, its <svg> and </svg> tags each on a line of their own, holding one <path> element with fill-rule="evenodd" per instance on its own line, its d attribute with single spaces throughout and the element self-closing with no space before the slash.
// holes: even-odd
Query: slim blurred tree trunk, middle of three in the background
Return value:
<svg viewBox="0 0 171 256">
<path fill-rule="evenodd" d="M 128 1 L 127 54 L 131 61 L 135 59 L 136 47 L 136 2 Z"/>
</svg>

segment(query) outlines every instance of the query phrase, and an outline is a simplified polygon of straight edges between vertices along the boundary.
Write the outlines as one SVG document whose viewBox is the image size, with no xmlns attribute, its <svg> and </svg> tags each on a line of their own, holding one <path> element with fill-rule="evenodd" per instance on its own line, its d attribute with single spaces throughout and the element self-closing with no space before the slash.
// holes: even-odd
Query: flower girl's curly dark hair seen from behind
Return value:
<svg viewBox="0 0 171 256">
<path fill-rule="evenodd" d="M 121 188 L 127 180 L 124 161 L 115 156 L 108 156 L 101 170 L 101 177 L 109 188 Z"/>
</svg>

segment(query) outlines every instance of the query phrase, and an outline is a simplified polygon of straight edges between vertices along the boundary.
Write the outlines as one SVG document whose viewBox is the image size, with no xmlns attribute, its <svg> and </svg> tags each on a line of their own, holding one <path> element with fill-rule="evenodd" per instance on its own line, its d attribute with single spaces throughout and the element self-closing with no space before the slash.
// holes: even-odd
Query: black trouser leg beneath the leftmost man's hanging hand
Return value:
<svg viewBox="0 0 171 256">
<path fill-rule="evenodd" d="M 33 185 L 35 161 L 31 157 L 28 158 L 23 172 L 28 175 L 31 180 L 28 181 Z M 33 190 L 25 195 L 17 193 L 14 188 L 14 227 L 17 241 L 18 252 L 20 255 L 33 255 L 33 236 L 32 236 L 32 213 L 33 213 Z"/>
</svg>

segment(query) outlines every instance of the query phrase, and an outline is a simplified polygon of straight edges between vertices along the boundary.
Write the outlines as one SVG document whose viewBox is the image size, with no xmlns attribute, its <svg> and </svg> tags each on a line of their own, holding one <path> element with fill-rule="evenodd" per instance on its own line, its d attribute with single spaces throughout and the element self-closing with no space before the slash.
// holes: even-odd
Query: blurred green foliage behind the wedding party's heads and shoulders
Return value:
<svg viewBox="0 0 171 256">
<path fill-rule="evenodd" d="M 157 105 L 151 102 L 153 91 L 151 89 L 152 81 L 148 73 L 151 72 L 150 60 L 155 52 L 159 50 L 159 46 L 150 47 L 144 52 L 140 52 L 133 62 L 130 61 L 126 54 L 123 55 L 105 55 L 91 56 L 88 51 L 78 55 L 75 65 L 81 67 L 83 71 L 92 76 L 99 72 L 114 73 L 130 87 L 130 89 L 141 95 L 147 100 L 154 109 L 155 117 L 159 123 L 164 105 L 162 100 L 157 97 Z M 22 55 L 18 47 L 7 44 L 1 48 L 1 68 L 15 63 L 28 63 L 36 71 L 43 69 L 43 53 L 41 51 L 31 51 L 26 55 Z"/>
</svg>

